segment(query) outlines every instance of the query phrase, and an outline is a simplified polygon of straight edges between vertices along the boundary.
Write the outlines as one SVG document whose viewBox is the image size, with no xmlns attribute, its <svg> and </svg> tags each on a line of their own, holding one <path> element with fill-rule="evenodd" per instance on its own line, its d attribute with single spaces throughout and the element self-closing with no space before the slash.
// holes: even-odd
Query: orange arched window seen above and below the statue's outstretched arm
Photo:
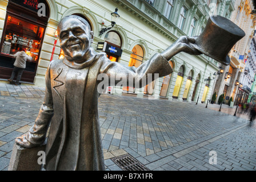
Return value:
<svg viewBox="0 0 256 182">
<path fill-rule="evenodd" d="M 141 46 L 136 45 L 134 48 L 131 50 L 133 53 L 130 55 L 130 61 L 129 61 L 129 67 L 135 67 L 138 68 L 143 61 L 144 57 L 144 51 Z M 130 86 L 124 86 L 123 91 L 126 92 L 135 92 L 135 88 L 132 88 Z"/>
</svg>

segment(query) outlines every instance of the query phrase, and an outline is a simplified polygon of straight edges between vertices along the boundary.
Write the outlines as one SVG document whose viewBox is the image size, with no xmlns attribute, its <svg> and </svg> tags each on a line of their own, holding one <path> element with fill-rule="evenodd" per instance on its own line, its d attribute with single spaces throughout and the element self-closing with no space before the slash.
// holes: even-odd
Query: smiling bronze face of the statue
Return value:
<svg viewBox="0 0 256 182">
<path fill-rule="evenodd" d="M 85 61 L 93 32 L 77 18 L 63 19 L 58 27 L 61 48 L 69 61 Z"/>
</svg>

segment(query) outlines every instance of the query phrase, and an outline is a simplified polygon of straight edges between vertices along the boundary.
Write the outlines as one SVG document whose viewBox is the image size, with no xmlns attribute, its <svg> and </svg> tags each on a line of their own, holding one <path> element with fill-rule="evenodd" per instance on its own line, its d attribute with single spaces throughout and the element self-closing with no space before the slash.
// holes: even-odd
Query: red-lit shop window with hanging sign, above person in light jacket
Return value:
<svg viewBox="0 0 256 182">
<path fill-rule="evenodd" d="M 25 48 L 26 53 L 33 57 L 33 61 L 38 61 L 44 30 L 45 28 L 9 15 L 1 54 L 13 56 L 16 52 Z"/>
</svg>

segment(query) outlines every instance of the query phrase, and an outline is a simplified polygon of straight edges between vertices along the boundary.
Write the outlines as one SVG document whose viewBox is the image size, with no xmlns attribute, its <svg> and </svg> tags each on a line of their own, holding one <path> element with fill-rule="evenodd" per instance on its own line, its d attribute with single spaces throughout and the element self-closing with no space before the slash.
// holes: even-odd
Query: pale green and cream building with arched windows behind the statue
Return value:
<svg viewBox="0 0 256 182">
<path fill-rule="evenodd" d="M 45 9 L 38 3 L 45 5 Z M 118 22 L 100 34 L 102 28 L 110 27 L 111 13 L 117 7 Z M 13 54 L 25 47 L 33 61 L 27 63 L 22 81 L 45 86 L 45 73 L 50 61 L 63 56 L 55 32 L 59 20 L 66 15 L 76 14 L 87 19 L 94 31 L 93 47 L 96 51 L 106 52 L 111 61 L 138 67 L 180 36 L 200 35 L 210 15 L 231 18 L 234 7 L 234 1 L 216 0 L 2 0 L 0 79 L 6 81 L 10 77 Z M 189 102 L 210 99 L 216 83 L 214 73 L 220 67 L 217 61 L 205 55 L 181 52 L 169 63 L 173 73 L 158 78 L 145 88 L 115 86 L 106 91 Z"/>
</svg>

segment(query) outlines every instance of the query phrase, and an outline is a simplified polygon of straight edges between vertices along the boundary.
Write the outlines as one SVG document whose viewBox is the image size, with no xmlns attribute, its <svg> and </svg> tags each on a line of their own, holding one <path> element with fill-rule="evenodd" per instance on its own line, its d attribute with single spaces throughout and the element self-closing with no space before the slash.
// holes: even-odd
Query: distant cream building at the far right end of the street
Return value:
<svg viewBox="0 0 256 182">
<path fill-rule="evenodd" d="M 250 42 L 253 38 L 256 19 L 254 15 L 250 14 L 254 9 L 252 1 L 237 0 L 234 2 L 234 8 L 235 11 L 231 14 L 230 20 L 242 28 L 246 35 L 229 52 L 230 65 L 219 67 L 223 69 L 223 73 L 218 75 L 214 92 L 217 93 L 217 101 L 219 96 L 224 94 L 225 104 L 232 97 L 234 104 L 237 105 L 247 102 L 251 92 L 251 77 L 254 77 L 254 71 L 250 67 L 251 64 L 246 64 L 246 60 L 250 52 Z M 252 62 L 250 61 L 250 63 Z M 249 69 L 252 72 L 247 75 Z"/>
</svg>

